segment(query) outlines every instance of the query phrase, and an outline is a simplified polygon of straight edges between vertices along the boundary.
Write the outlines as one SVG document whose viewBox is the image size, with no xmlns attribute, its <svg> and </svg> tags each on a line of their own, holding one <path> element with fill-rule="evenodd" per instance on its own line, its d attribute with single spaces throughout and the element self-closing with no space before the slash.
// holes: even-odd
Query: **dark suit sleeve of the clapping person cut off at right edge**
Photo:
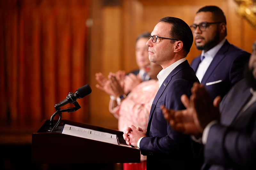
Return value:
<svg viewBox="0 0 256 170">
<path fill-rule="evenodd" d="M 221 124 L 213 125 L 204 146 L 205 162 L 241 169 L 256 169 L 256 121 L 253 121 L 252 133 Z"/>
</svg>

